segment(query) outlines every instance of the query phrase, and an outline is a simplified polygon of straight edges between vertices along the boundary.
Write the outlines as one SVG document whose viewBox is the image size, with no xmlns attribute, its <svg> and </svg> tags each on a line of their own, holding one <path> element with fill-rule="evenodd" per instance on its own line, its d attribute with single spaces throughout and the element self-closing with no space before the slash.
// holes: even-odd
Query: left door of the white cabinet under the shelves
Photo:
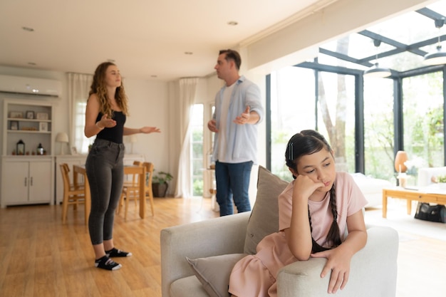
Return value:
<svg viewBox="0 0 446 297">
<path fill-rule="evenodd" d="M 28 162 L 4 162 L 1 181 L 1 207 L 28 202 Z"/>
</svg>

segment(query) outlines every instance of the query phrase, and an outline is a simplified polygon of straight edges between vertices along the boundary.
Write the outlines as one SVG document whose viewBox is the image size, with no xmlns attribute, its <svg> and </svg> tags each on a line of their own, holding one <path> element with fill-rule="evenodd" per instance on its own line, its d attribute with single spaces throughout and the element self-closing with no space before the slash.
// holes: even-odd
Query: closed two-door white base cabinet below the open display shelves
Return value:
<svg viewBox="0 0 446 297">
<path fill-rule="evenodd" d="M 51 157 L 3 157 L 1 207 L 20 204 L 52 204 Z"/>
</svg>

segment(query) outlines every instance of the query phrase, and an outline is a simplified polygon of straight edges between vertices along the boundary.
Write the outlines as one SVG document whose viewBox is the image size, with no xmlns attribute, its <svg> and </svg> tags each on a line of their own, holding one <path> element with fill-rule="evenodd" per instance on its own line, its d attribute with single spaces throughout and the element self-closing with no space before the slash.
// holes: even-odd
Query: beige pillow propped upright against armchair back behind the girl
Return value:
<svg viewBox="0 0 446 297">
<path fill-rule="evenodd" d="M 249 217 L 247 236 L 244 240 L 244 252 L 256 254 L 257 244 L 264 236 L 279 231 L 278 198 L 288 182 L 259 166 L 257 179 L 257 197 Z"/>
</svg>

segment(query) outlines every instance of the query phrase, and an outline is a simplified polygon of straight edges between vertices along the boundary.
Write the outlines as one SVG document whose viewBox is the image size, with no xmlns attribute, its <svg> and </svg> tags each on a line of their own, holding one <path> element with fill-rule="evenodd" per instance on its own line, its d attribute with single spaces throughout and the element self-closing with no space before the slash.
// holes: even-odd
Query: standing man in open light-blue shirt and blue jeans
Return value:
<svg viewBox="0 0 446 297">
<path fill-rule="evenodd" d="M 215 112 L 207 127 L 215 132 L 214 152 L 217 202 L 220 216 L 249 212 L 249 178 L 257 157 L 257 127 L 263 118 L 260 89 L 250 80 L 239 75 L 240 58 L 237 51 L 219 52 L 218 78 L 226 85 L 215 96 Z"/>
</svg>

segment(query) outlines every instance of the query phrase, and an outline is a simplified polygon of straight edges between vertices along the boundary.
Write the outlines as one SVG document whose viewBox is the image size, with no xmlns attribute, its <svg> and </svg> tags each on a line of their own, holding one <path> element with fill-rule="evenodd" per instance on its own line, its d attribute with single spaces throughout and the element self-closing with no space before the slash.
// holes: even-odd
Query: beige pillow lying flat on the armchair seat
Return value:
<svg viewBox="0 0 446 297">
<path fill-rule="evenodd" d="M 189 259 L 195 276 L 211 297 L 229 297 L 229 276 L 234 265 L 247 254 L 229 254 L 208 258 Z"/>
</svg>

